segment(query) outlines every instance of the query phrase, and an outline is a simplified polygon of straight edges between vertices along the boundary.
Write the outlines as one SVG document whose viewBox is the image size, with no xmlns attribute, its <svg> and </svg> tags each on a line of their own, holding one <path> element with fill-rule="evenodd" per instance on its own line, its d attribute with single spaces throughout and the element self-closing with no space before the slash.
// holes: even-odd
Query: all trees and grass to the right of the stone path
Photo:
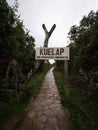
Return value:
<svg viewBox="0 0 98 130">
<path fill-rule="evenodd" d="M 62 104 L 69 109 L 75 130 L 98 130 L 98 11 L 85 15 L 79 26 L 73 25 L 68 37 L 69 97 L 63 61 L 56 61 L 55 71 Z"/>
</svg>

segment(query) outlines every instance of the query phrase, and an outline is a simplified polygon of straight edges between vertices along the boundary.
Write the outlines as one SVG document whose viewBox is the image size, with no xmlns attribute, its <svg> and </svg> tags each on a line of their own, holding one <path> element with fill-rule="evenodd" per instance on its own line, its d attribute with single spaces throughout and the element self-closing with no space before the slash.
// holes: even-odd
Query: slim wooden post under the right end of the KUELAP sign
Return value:
<svg viewBox="0 0 98 130">
<path fill-rule="evenodd" d="M 68 88 L 68 61 L 64 61 L 64 81 L 65 81 L 65 93 L 66 97 L 69 96 L 69 88 Z"/>
</svg>

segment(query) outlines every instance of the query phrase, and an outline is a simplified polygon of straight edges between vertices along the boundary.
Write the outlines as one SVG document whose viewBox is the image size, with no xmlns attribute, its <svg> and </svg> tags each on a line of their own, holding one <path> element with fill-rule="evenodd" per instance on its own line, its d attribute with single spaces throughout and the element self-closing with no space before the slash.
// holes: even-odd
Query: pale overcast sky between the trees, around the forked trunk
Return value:
<svg viewBox="0 0 98 130">
<path fill-rule="evenodd" d="M 7 0 L 13 5 L 14 0 Z M 18 0 L 19 14 L 30 34 L 35 38 L 36 46 L 43 46 L 45 23 L 49 30 L 56 24 L 49 47 L 65 47 L 68 45 L 68 32 L 72 25 L 79 25 L 84 15 L 91 10 L 98 10 L 98 0 Z"/>
</svg>

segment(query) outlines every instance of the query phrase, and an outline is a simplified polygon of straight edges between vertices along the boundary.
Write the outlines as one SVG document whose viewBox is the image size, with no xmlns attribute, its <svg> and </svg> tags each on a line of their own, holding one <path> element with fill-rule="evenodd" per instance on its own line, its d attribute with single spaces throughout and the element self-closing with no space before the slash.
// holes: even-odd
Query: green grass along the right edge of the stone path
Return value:
<svg viewBox="0 0 98 130">
<path fill-rule="evenodd" d="M 64 79 L 61 72 L 54 71 L 59 86 L 61 102 L 69 109 L 75 130 L 98 130 L 98 103 L 88 97 L 86 89 L 78 89 L 69 83 L 69 97 L 65 95 Z"/>
</svg>

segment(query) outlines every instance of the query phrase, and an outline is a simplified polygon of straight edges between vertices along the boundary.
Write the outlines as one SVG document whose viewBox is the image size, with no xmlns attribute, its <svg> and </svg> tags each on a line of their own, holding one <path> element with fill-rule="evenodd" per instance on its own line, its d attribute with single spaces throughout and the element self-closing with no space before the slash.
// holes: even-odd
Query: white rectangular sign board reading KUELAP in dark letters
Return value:
<svg viewBox="0 0 98 130">
<path fill-rule="evenodd" d="M 62 48 L 36 48 L 37 60 L 69 60 L 69 47 Z"/>
</svg>

